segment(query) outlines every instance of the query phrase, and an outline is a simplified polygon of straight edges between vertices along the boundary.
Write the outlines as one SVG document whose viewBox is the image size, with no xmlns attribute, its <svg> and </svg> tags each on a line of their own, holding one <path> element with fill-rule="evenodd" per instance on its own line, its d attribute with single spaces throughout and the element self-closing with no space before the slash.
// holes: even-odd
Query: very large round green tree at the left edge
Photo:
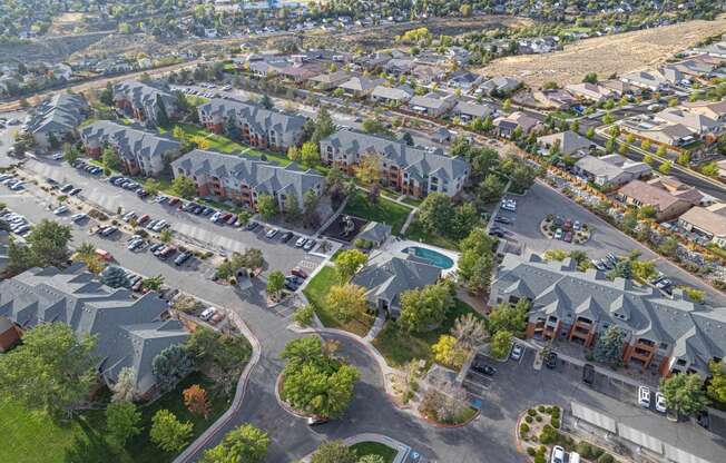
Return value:
<svg viewBox="0 0 726 463">
<path fill-rule="evenodd" d="M 96 381 L 96 339 L 63 323 L 27 331 L 22 344 L 0 356 L 0 395 L 57 418 L 80 402 Z"/>
</svg>

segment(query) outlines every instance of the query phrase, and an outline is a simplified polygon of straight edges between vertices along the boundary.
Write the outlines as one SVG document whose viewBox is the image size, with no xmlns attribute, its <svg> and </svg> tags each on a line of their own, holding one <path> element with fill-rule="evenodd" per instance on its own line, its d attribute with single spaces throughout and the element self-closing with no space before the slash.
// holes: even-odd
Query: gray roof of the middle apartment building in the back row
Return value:
<svg viewBox="0 0 726 463">
<path fill-rule="evenodd" d="M 307 120 L 304 116 L 288 115 L 251 102 L 213 98 L 209 102 L 200 105 L 199 111 L 209 116 L 235 116 L 236 120 L 248 122 L 256 132 L 266 134 L 269 130 L 277 132 L 300 131 Z"/>
</svg>

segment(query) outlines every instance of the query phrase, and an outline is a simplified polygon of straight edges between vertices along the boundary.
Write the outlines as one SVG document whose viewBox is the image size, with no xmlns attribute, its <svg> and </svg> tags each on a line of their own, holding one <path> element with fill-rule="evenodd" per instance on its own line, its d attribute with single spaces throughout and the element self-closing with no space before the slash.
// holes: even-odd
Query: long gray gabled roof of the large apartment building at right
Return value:
<svg viewBox="0 0 726 463">
<path fill-rule="evenodd" d="M 530 298 L 530 321 L 586 316 L 621 326 L 635 337 L 674 346 L 673 356 L 702 372 L 710 358 L 726 354 L 726 308 L 699 308 L 680 289 L 666 298 L 650 286 L 622 278 L 610 282 L 595 269 L 577 270 L 569 258 L 544 263 L 537 255 L 507 254 L 491 294 L 504 301 L 511 295 Z"/>
</svg>

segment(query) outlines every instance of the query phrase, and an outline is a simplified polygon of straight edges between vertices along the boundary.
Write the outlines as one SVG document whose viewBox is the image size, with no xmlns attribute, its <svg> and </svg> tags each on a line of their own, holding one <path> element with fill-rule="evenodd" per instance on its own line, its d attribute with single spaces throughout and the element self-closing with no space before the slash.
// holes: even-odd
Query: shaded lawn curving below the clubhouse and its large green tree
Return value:
<svg viewBox="0 0 726 463">
<path fill-rule="evenodd" d="M 449 333 L 459 316 L 468 313 L 477 314 L 469 304 L 455 299 L 454 307 L 438 328 L 414 334 L 406 333 L 395 322 L 389 321 L 377 337 L 373 339 L 373 345 L 385 357 L 389 365 L 394 367 L 400 367 L 412 359 L 419 358 L 431 363 L 433 358 L 431 346 L 439 341 L 439 336 Z"/>
</svg>

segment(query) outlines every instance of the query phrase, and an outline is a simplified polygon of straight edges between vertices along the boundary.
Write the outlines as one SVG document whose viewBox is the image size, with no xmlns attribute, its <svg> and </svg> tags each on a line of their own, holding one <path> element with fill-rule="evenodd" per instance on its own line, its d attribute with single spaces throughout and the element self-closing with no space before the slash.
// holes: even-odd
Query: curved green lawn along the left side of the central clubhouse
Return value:
<svg viewBox="0 0 726 463">
<path fill-rule="evenodd" d="M 315 313 L 323 325 L 331 328 L 341 328 L 359 336 L 365 336 L 373 326 L 373 316 L 361 314 L 359 317 L 344 322 L 335 313 L 328 309 L 325 304 L 325 296 L 331 286 L 340 283 L 337 272 L 333 267 L 323 267 L 303 290 L 307 301 L 315 307 Z"/>
</svg>

